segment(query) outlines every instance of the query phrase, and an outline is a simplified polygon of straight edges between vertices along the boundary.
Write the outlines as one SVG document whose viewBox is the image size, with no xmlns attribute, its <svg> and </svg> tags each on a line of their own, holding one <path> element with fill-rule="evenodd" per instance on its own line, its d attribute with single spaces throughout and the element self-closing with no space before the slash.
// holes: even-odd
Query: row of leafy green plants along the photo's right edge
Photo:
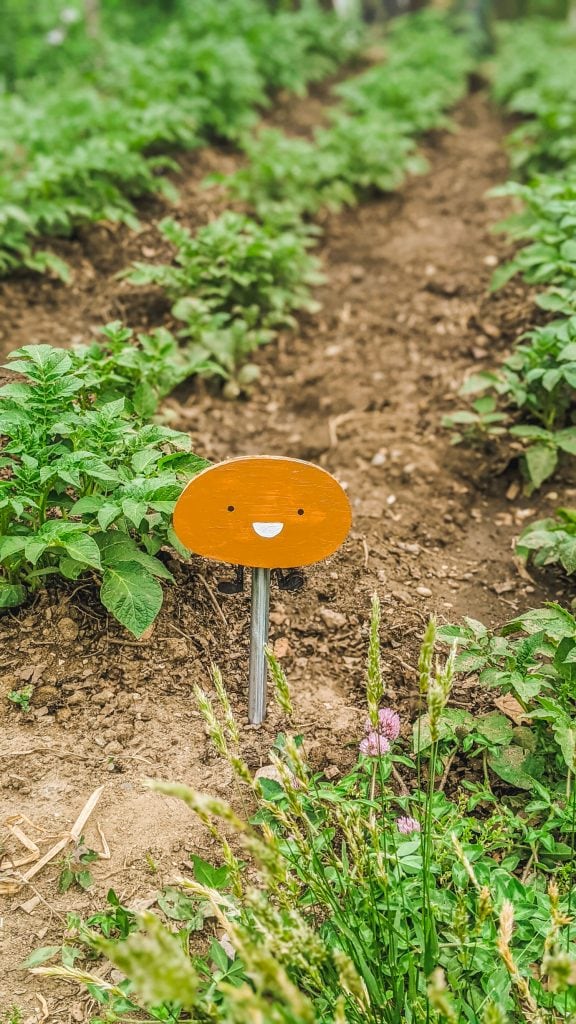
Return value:
<svg viewBox="0 0 576 1024">
<path fill-rule="evenodd" d="M 543 313 L 501 369 L 467 379 L 461 393 L 481 397 L 446 422 L 460 431 L 458 440 L 499 437 L 517 446 L 520 440 L 531 494 L 556 472 L 563 454 L 576 455 L 576 43 L 563 26 L 544 22 L 502 36 L 493 93 L 522 118 L 509 139 L 521 180 L 495 190 L 519 206 L 498 226 L 523 245 L 496 270 L 493 287 L 522 276 L 537 289 Z M 519 551 L 538 565 L 560 562 L 574 572 L 576 511 L 562 509 L 556 519 L 531 524 Z"/>
</svg>

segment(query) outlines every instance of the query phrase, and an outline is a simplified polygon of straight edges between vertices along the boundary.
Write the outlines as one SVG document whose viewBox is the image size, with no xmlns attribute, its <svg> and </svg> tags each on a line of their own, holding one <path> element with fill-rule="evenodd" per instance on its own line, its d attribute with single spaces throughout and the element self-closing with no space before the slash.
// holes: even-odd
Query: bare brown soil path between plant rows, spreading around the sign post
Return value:
<svg viewBox="0 0 576 1024">
<path fill-rule="evenodd" d="M 490 350 L 493 357 L 495 346 L 509 343 L 528 308 L 520 287 L 487 298 L 503 245 L 490 233 L 498 204 L 485 198 L 506 174 L 502 125 L 482 93 L 461 105 L 456 120 L 457 133 L 427 146 L 429 174 L 328 223 L 323 310 L 296 337 L 258 353 L 261 382 L 249 399 L 227 403 L 198 384 L 167 402 L 173 424 L 191 430 L 198 451 L 211 459 L 263 452 L 311 459 L 348 487 L 355 524 L 344 549 L 307 573 L 303 593 L 276 592 L 272 615 L 298 728 L 313 761 L 333 774 L 354 759 L 361 729 L 374 589 L 382 600 L 389 700 L 405 716 L 406 731 L 418 637 L 431 611 L 443 620 L 468 614 L 495 622 L 544 597 L 512 560 L 528 503 L 506 501 L 502 479 L 480 457 L 451 449 L 439 425 L 464 371 L 489 365 Z M 118 262 L 114 257 L 113 269 Z M 92 296 L 83 317 L 76 303 L 79 331 L 89 329 L 96 309 L 100 323 L 122 311 L 125 286 L 114 291 L 112 271 L 101 273 L 111 290 L 97 302 Z M 70 310 L 67 322 L 66 303 L 50 287 L 53 316 L 43 307 L 36 334 L 59 342 Z M 10 288 L 13 295 L 22 283 Z M 153 299 L 142 299 L 143 322 L 159 314 Z M 75 992 L 31 982 L 17 970 L 20 958 L 57 941 L 58 914 L 101 906 L 110 886 L 127 901 L 146 897 L 186 870 L 191 850 L 214 855 L 189 814 L 142 793 L 140 779 L 177 778 L 230 795 L 228 770 L 206 743 L 191 686 L 206 683 L 213 658 L 244 713 L 248 597 L 218 596 L 217 612 L 213 591 L 221 571 L 198 562 L 176 572 L 178 585 L 167 592 L 149 641 L 128 641 L 89 592 L 70 598 L 52 591 L 2 621 L 0 819 L 23 813 L 53 834 L 69 827 L 91 790 L 106 782 L 97 818 L 112 850 L 112 860 L 95 866 L 89 895 L 56 895 L 52 867 L 38 881 L 47 903 L 32 915 L 16 909 L 17 898 L 6 901 L 2 1011 L 16 1002 L 34 1020 L 40 989 L 49 1021 L 83 1020 L 88 1011 Z M 30 680 L 35 710 L 24 717 L 8 709 L 5 693 Z M 487 700 L 463 686 L 455 698 L 469 707 Z M 263 729 L 244 729 L 251 766 L 265 763 L 281 726 L 273 709 Z M 86 839 L 97 845 L 93 824 Z"/>
</svg>

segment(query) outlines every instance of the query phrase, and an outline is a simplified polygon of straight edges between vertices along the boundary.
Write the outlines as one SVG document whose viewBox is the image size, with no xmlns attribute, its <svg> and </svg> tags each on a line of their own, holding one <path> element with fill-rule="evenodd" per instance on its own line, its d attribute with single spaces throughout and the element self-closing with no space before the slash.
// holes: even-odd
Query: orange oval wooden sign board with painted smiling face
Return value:
<svg viewBox="0 0 576 1024">
<path fill-rule="evenodd" d="M 274 456 L 231 459 L 190 481 L 174 529 L 190 551 L 251 568 L 327 558 L 352 523 L 342 487 L 324 469 Z"/>
</svg>

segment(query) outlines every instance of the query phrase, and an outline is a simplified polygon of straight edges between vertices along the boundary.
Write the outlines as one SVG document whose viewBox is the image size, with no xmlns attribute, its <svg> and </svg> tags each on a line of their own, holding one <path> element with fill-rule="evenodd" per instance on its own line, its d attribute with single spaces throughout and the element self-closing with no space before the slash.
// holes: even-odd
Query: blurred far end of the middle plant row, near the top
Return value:
<svg viewBox="0 0 576 1024">
<path fill-rule="evenodd" d="M 247 166 L 223 180 L 258 216 L 280 222 L 394 190 L 407 174 L 425 169 L 413 137 L 445 126 L 443 111 L 463 93 L 469 67 L 465 40 L 445 18 L 429 12 L 399 18 L 386 62 L 335 89 L 343 104 L 330 127 L 317 129 L 311 141 L 276 130 L 248 137 Z"/>
</svg>

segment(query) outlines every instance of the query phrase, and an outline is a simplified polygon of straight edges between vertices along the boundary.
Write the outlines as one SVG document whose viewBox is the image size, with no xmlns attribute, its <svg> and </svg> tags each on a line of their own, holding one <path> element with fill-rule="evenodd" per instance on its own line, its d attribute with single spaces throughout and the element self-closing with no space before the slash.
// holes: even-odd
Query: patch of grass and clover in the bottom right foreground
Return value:
<svg viewBox="0 0 576 1024">
<path fill-rule="evenodd" d="M 528 639 L 540 628 L 548 639 L 576 638 L 574 620 L 570 626 L 553 608 L 511 628 Z M 460 659 L 476 654 L 478 660 L 479 646 L 482 655 L 495 656 L 495 641 L 478 623 L 444 632 L 450 642 L 469 641 Z M 372 667 L 379 660 L 374 636 L 371 631 Z M 538 643 L 533 638 L 530 650 L 520 641 L 510 647 L 519 672 L 531 668 Z M 561 646 L 559 672 L 567 678 Z M 576 950 L 566 927 L 574 797 L 554 792 L 552 764 L 552 791 L 542 771 L 540 781 L 530 775 L 525 785 L 522 771 L 536 771 L 524 758 L 527 741 L 522 744 L 503 715 L 475 722 L 447 707 L 454 655 L 434 665 L 430 624 L 419 662 L 429 731 L 425 737 L 422 721 L 416 727 L 416 761 L 384 744 L 380 754 L 364 753 L 337 782 L 313 774 L 301 742 L 285 734 L 271 752 L 279 781 L 255 780 L 238 749 L 225 691 L 216 686 L 221 725 L 201 694 L 209 733 L 218 736 L 220 754 L 249 787 L 256 814 L 248 822 L 222 800 L 176 783 L 151 785 L 183 800 L 220 839 L 222 866 L 194 858 L 195 877 L 180 880 L 171 899 L 177 902 L 179 892 L 182 903 L 196 904 L 200 913 L 206 907 L 223 937 L 216 941 L 207 930 L 203 952 L 191 954 L 187 919 L 194 911 L 175 915 L 172 903 L 159 900 L 168 927 L 159 914 L 145 913 L 124 941 L 102 941 L 86 928 L 79 933 L 83 957 L 104 953 L 126 976 L 120 985 L 97 968 L 54 965 L 36 973 L 87 985 L 112 1022 L 146 1013 L 153 1020 L 193 1017 L 216 1024 L 520 1024 L 529 1019 L 523 1008 L 530 1005 L 531 1019 L 568 1024 L 576 1010 Z M 396 719 L 390 709 L 377 715 L 388 725 Z M 560 756 L 573 758 L 557 720 L 539 721 L 550 722 Z M 368 728 L 374 727 L 370 719 Z M 444 786 L 454 761 L 450 751 L 458 743 L 488 759 L 502 778 L 511 765 L 517 796 L 499 800 L 488 783 L 468 782 L 449 799 Z M 425 792 L 419 787 L 420 748 L 427 755 Z M 405 796 L 394 792 L 396 766 L 415 775 Z M 479 804 L 483 814 L 475 816 Z M 234 849 L 247 853 L 249 864 L 233 852 L 231 831 Z M 562 891 L 554 881 L 546 893 L 550 873 L 564 880 Z"/>
</svg>

